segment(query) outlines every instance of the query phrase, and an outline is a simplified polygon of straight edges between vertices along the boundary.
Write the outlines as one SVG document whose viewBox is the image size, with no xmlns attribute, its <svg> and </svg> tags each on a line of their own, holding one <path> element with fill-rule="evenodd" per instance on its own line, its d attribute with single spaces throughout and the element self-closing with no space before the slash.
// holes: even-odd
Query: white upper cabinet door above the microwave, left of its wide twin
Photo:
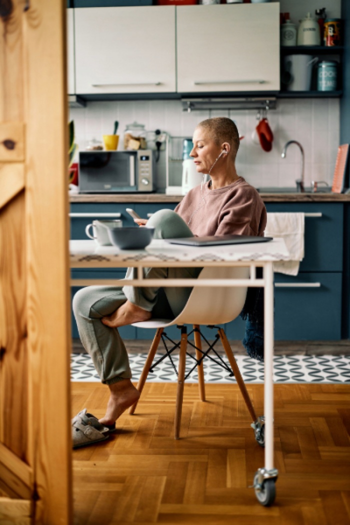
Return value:
<svg viewBox="0 0 350 525">
<path fill-rule="evenodd" d="M 76 92 L 176 91 L 175 7 L 75 9 Z"/>
</svg>

